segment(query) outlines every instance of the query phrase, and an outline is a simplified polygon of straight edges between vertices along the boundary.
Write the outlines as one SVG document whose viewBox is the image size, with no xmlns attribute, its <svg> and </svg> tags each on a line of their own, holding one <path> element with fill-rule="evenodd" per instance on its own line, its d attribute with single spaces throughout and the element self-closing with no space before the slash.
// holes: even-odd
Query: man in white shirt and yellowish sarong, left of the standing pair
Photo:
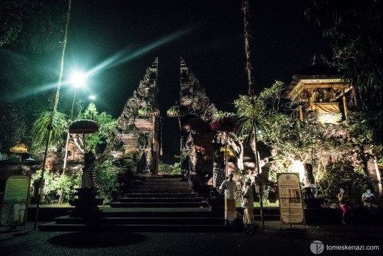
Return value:
<svg viewBox="0 0 383 256">
<path fill-rule="evenodd" d="M 234 174 L 229 174 L 229 179 L 225 179 L 220 190 L 225 190 L 225 226 L 230 225 L 236 218 L 235 191 L 236 182 L 233 181 Z"/>
</svg>

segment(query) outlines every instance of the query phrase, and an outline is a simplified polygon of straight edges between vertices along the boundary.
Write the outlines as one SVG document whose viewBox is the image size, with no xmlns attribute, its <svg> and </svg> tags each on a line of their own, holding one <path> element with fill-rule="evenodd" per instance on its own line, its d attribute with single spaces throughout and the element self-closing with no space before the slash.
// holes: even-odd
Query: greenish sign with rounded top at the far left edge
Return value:
<svg viewBox="0 0 383 256">
<path fill-rule="evenodd" d="M 8 177 L 1 207 L 1 226 L 23 225 L 26 220 L 30 179 L 25 175 Z"/>
</svg>

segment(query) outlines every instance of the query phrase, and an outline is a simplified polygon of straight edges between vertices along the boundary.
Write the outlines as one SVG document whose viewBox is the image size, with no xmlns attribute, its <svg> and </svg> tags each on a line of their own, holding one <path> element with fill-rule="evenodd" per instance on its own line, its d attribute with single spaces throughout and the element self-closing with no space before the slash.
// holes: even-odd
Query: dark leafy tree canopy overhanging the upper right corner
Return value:
<svg viewBox="0 0 383 256">
<path fill-rule="evenodd" d="M 383 143 L 382 1 L 316 0 L 305 13 L 324 28 L 334 53 L 326 62 L 356 86 L 375 140 Z"/>
</svg>

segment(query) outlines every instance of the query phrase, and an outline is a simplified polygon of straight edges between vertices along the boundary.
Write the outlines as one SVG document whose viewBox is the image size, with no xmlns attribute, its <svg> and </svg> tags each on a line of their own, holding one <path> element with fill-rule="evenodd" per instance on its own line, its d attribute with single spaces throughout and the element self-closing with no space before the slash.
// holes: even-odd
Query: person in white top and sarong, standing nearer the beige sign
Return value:
<svg viewBox="0 0 383 256">
<path fill-rule="evenodd" d="M 254 198 L 251 186 L 251 179 L 245 179 L 245 190 L 243 191 L 243 207 L 245 207 L 243 213 L 243 225 L 245 226 L 245 233 L 254 235 L 255 232 L 255 221 L 254 221 Z"/>
</svg>

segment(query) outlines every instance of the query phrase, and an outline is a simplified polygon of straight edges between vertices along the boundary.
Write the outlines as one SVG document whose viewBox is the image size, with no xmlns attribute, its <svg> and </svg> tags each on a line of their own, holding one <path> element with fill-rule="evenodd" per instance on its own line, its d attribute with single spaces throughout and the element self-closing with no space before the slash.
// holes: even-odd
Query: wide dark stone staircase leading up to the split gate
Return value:
<svg viewBox="0 0 383 256">
<path fill-rule="evenodd" d="M 237 208 L 243 214 L 242 208 Z M 254 209 L 260 219 L 259 208 Z M 279 219 L 279 208 L 265 209 L 266 220 Z M 128 231 L 128 232 L 236 232 L 243 230 L 242 219 L 223 226 L 223 205 L 211 210 L 206 201 L 180 181 L 180 176 L 150 176 L 140 181 L 131 194 L 125 194 L 111 208 L 93 216 L 57 217 L 39 225 L 44 231 Z"/>
</svg>

